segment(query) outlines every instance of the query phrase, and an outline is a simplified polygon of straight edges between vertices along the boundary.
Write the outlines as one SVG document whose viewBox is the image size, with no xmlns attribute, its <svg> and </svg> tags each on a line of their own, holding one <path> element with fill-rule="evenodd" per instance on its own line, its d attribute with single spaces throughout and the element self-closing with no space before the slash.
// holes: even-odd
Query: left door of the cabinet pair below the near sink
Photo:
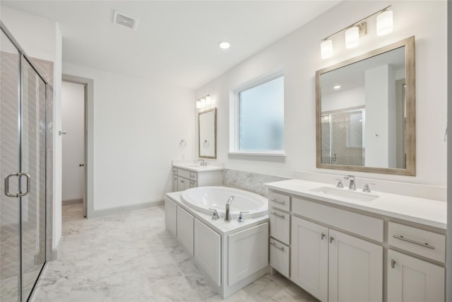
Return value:
<svg viewBox="0 0 452 302">
<path fill-rule="evenodd" d="M 292 216 L 290 279 L 328 301 L 328 228 Z"/>
</svg>

